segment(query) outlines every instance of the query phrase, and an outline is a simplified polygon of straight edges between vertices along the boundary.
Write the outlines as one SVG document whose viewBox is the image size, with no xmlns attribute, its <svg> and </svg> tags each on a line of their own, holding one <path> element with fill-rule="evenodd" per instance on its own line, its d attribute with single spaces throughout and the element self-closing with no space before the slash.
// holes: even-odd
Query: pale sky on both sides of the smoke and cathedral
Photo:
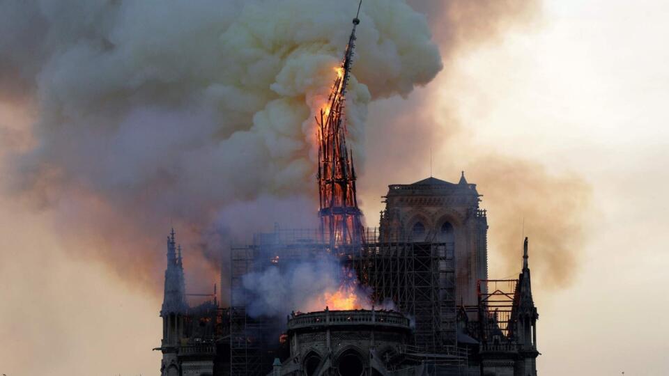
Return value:
<svg viewBox="0 0 669 376">
<path fill-rule="evenodd" d="M 468 150 L 493 150 L 576 174 L 592 191 L 569 283 L 550 288 L 541 273 L 532 274 L 541 375 L 669 373 L 663 320 L 669 205 L 662 197 L 669 191 L 668 16 L 663 1 L 547 0 L 540 19 L 457 54 L 447 62 L 451 68 L 407 99 L 427 98 L 424 111 L 437 119 L 444 107 L 456 109 L 449 117 L 458 119 L 459 130 L 452 131 L 448 118 L 437 120 L 449 141 L 431 141 L 439 178 L 456 180 L 466 169 L 477 182 L 477 171 L 466 168 L 475 166 Z M 374 122 L 399 100 L 371 104 L 370 148 L 378 147 Z M 29 110 L 0 109 L 2 120 L 31 121 Z M 387 184 L 429 175 L 429 154 L 423 160 L 387 173 L 380 185 L 361 177 L 368 223 L 378 219 Z M 367 166 L 381 162 L 382 155 L 371 153 Z M 495 187 L 478 188 L 485 207 L 486 192 Z M 53 209 L 30 210 L 9 195 L 0 197 L 0 207 L 0 338 L 8 344 L 0 373 L 157 374 L 160 354 L 151 349 L 159 345 L 160 297 L 70 252 Z M 491 228 L 505 226 L 494 218 L 491 213 Z M 541 219 L 525 221 L 532 268 L 532 252 L 542 251 L 532 248 L 532 226 Z M 147 246 L 162 250 L 162 240 Z M 496 244 L 491 237 L 493 275 L 506 270 L 495 269 L 501 263 Z"/>
</svg>

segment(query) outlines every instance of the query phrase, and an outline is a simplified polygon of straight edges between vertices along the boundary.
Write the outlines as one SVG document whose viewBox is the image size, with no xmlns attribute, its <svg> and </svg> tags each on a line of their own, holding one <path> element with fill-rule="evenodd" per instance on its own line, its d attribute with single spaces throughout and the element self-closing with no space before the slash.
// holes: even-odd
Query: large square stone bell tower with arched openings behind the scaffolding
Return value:
<svg viewBox="0 0 669 376">
<path fill-rule="evenodd" d="M 476 305 L 477 281 L 488 278 L 488 222 L 486 211 L 479 208 L 476 185 L 469 184 L 463 172 L 457 184 L 430 177 L 388 188 L 381 238 L 445 242 L 456 260 L 457 302 Z"/>
</svg>

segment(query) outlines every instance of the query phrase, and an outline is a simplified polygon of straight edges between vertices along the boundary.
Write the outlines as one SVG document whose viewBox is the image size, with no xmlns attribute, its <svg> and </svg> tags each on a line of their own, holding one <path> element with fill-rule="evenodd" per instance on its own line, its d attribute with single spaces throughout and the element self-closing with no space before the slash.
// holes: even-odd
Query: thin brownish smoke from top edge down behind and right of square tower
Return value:
<svg viewBox="0 0 669 376">
<path fill-rule="evenodd" d="M 521 267 L 524 234 L 530 237 L 530 267 L 539 288 L 569 285 L 587 241 L 590 186 L 576 173 L 547 169 L 518 155 L 482 148 L 459 115 L 461 74 L 453 61 L 484 43 L 501 40 L 509 29 L 528 28 L 541 19 L 539 1 L 410 1 L 428 15 L 445 70 L 406 100 L 391 98 L 370 109 L 368 163 L 360 179 L 366 212 L 381 209 L 379 182 L 409 183 L 433 173 L 456 182 L 461 170 L 483 194 L 488 209 L 490 276 L 513 277 Z M 485 90 L 485 88 L 482 88 Z M 485 111 L 481 104 L 481 111 Z M 409 125 L 409 126 L 408 126 Z M 527 125 L 531 127 L 531 124 Z M 518 140 L 520 154 L 524 140 Z M 392 150 L 393 152 L 389 152 Z M 417 175 L 416 171 L 422 171 Z M 413 178 L 407 179 L 407 176 Z M 376 206 L 375 206 L 376 205 Z M 538 282 L 538 283 L 537 283 Z"/>
</svg>

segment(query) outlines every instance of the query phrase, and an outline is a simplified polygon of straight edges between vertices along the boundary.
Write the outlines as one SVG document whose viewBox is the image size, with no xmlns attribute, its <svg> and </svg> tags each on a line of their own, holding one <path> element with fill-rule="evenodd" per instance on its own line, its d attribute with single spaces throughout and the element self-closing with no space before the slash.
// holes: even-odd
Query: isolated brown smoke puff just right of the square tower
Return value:
<svg viewBox="0 0 669 376">
<path fill-rule="evenodd" d="M 518 273 L 525 235 L 535 280 L 547 288 L 569 285 L 587 240 L 591 192 L 583 178 L 495 154 L 482 155 L 467 169 L 490 213 L 491 272 L 500 277 Z"/>
</svg>

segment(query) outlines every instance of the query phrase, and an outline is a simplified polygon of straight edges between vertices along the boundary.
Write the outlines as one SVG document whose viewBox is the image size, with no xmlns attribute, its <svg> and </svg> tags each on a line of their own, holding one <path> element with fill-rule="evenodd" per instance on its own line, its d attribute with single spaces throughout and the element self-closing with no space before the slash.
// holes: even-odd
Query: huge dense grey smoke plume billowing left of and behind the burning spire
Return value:
<svg viewBox="0 0 669 376">
<path fill-rule="evenodd" d="M 187 269 L 210 275 L 197 289 L 236 235 L 313 218 L 312 115 L 357 0 L 2 8 L 0 97 L 36 109 L 29 146 L 3 158 L 8 185 L 55 212 L 77 257 L 157 287 L 174 226 Z M 360 19 L 347 118 L 363 171 L 369 102 L 407 95 L 442 63 L 403 1 L 366 0 Z"/>
</svg>

